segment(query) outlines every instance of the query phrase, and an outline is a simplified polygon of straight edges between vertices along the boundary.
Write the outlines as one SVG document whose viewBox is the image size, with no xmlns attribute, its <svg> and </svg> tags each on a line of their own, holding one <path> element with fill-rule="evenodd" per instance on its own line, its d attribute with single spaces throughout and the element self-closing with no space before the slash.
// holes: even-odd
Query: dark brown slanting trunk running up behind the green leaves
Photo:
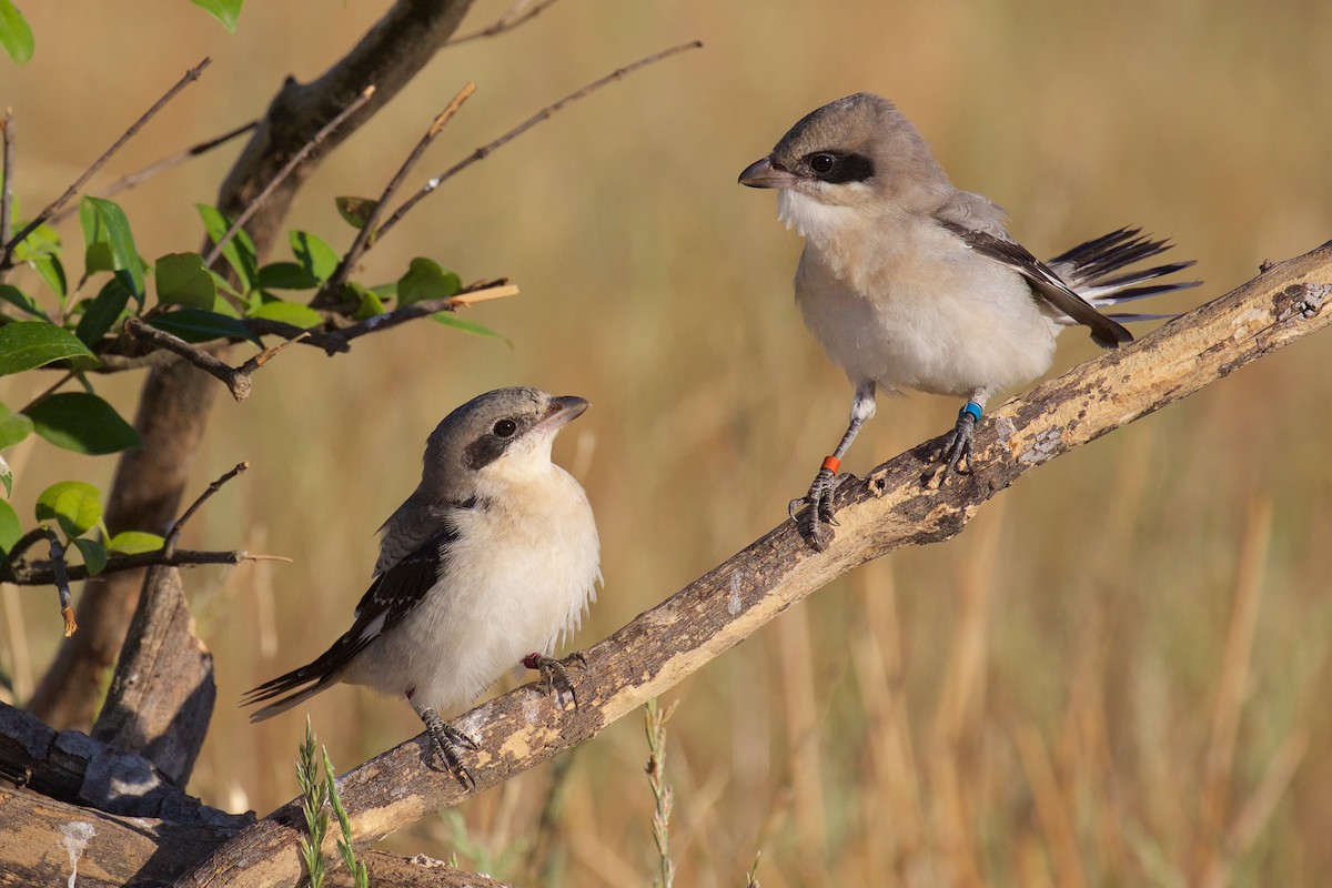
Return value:
<svg viewBox="0 0 1332 888">
<path fill-rule="evenodd" d="M 238 214 L 338 111 L 373 84 L 376 93 L 306 164 L 269 197 L 246 226 L 260 254 L 280 233 L 296 190 L 320 157 L 333 150 L 384 107 L 457 31 L 472 0 L 398 0 L 361 41 L 318 80 L 288 80 L 269 105 L 249 144 L 222 182 L 217 206 Z M 174 518 L 202 439 L 217 383 L 176 362 L 153 367 L 144 383 L 135 422 L 143 450 L 120 459 L 107 502 L 107 526 L 161 533 Z M 55 727 L 92 722 L 103 672 L 116 660 L 135 611 L 141 572 L 91 580 L 79 604 L 80 631 L 67 639 L 31 700 L 33 712 Z"/>
</svg>

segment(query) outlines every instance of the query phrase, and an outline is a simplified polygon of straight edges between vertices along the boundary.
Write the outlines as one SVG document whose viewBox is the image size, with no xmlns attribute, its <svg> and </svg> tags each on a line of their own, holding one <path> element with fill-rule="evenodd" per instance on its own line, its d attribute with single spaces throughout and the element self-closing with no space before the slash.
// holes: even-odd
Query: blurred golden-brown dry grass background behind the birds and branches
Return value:
<svg viewBox="0 0 1332 888">
<path fill-rule="evenodd" d="M 0 101 L 17 113 L 31 210 L 202 55 L 205 79 L 100 181 L 257 114 L 385 4 L 246 4 L 234 37 L 182 0 L 21 5 L 37 53 L 0 65 Z M 469 27 L 502 8 L 478 3 Z M 1122 224 L 1173 237 L 1207 281 L 1168 306 L 1181 309 L 1332 234 L 1329 35 L 1332 7 L 1313 0 L 565 0 L 441 53 L 322 165 L 292 226 L 349 242 L 332 197 L 377 193 L 465 80 L 480 89 L 422 176 L 614 67 L 707 44 L 474 166 L 370 254 L 369 278 L 416 254 L 468 280 L 511 276 L 523 294 L 472 316 L 511 347 L 417 324 L 337 359 L 292 349 L 248 402 L 218 398 L 196 487 L 253 469 L 189 542 L 294 563 L 188 576 L 220 690 L 190 791 L 260 812 L 294 795 L 302 715 L 252 727 L 233 702 L 345 627 L 425 435 L 478 391 L 534 383 L 595 405 L 557 447 L 603 539 L 606 587 L 578 642 L 785 517 L 850 386 L 791 304 L 798 240 L 735 176 L 806 111 L 858 89 L 894 97 L 1038 253 Z M 197 245 L 190 205 L 212 200 L 232 154 L 123 201 L 141 252 Z M 1313 337 L 1050 465 L 959 539 L 860 568 L 673 691 L 677 884 L 743 884 L 759 851 L 766 888 L 1325 880 L 1328 347 Z M 1092 350 L 1067 335 L 1056 369 Z M 0 399 L 23 403 L 37 382 L 7 379 Z M 132 413 L 137 383 L 105 389 Z M 940 433 L 956 407 L 882 405 L 847 469 Z M 20 503 L 112 471 L 49 449 L 15 462 Z M 41 591 L 4 600 L 23 692 L 59 616 Z M 344 768 L 420 731 L 408 707 L 352 688 L 309 712 Z M 458 849 L 522 884 L 649 884 L 646 755 L 635 719 L 577 751 L 549 879 L 526 852 L 549 766 L 390 843 Z"/>
</svg>

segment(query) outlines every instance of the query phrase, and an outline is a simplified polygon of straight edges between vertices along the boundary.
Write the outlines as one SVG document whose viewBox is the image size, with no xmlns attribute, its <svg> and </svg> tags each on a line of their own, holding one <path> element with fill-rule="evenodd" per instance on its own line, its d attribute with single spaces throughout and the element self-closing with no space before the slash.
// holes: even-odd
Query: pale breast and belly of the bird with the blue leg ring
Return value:
<svg viewBox="0 0 1332 888">
<path fill-rule="evenodd" d="M 940 226 L 836 206 L 799 218 L 819 238 L 801 257 L 797 302 L 852 382 L 966 397 L 1050 367 L 1058 326 L 1022 277 Z"/>
</svg>

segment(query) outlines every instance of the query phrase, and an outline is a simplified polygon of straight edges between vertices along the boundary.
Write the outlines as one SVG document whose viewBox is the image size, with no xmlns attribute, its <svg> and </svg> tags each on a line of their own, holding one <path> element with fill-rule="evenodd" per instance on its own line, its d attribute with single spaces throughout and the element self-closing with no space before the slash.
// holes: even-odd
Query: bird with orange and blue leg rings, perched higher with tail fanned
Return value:
<svg viewBox="0 0 1332 888">
<path fill-rule="evenodd" d="M 1191 261 L 1126 272 L 1171 246 L 1139 228 L 1039 261 L 1008 234 L 1004 210 L 958 189 L 911 121 L 872 93 L 802 117 L 739 184 L 777 189 L 778 218 L 805 238 L 795 301 L 855 386 L 846 433 L 789 507 L 798 519 L 809 506 L 815 547 L 836 523 L 838 469 L 878 391 L 966 398 L 936 454 L 946 481 L 963 461 L 972 469 L 986 402 L 1048 370 L 1063 326 L 1112 349 L 1134 338 L 1123 322 L 1169 316 L 1102 309 L 1199 284 L 1159 282 Z"/>
</svg>

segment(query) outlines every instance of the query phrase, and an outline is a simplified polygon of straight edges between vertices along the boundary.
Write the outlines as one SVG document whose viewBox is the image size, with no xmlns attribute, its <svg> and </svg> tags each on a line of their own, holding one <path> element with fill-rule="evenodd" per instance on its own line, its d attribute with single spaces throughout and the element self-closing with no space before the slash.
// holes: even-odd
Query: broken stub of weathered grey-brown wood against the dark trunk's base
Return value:
<svg viewBox="0 0 1332 888">
<path fill-rule="evenodd" d="M 194 635 L 180 571 L 155 567 L 144 579 L 92 736 L 143 755 L 184 787 L 208 736 L 216 700 L 213 655 Z"/>
</svg>

